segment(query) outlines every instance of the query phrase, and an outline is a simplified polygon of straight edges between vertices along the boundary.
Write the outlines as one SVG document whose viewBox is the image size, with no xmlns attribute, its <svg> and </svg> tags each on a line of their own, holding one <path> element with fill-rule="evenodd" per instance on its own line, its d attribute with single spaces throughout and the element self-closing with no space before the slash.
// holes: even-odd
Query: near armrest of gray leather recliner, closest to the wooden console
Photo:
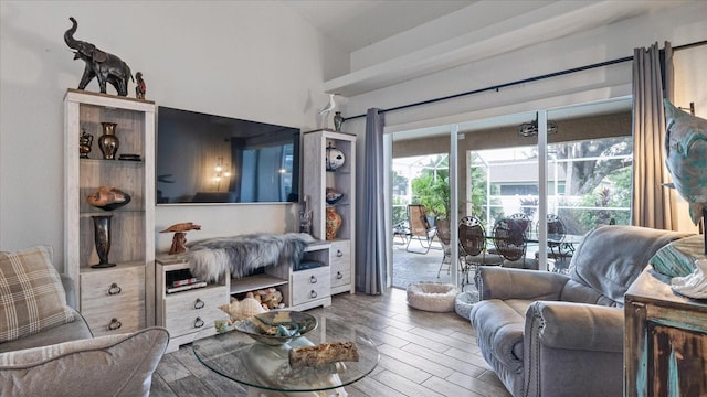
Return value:
<svg viewBox="0 0 707 397">
<path fill-rule="evenodd" d="M 573 302 L 537 301 L 526 312 L 526 339 L 547 347 L 623 352 L 622 309 Z"/>
</svg>

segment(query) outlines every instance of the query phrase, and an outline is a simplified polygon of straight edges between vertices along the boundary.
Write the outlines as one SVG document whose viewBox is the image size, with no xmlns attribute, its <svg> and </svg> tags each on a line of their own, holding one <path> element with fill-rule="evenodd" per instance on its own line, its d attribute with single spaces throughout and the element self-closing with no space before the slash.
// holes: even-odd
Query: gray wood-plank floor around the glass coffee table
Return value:
<svg viewBox="0 0 707 397">
<path fill-rule="evenodd" d="M 409 308 L 404 290 L 341 293 L 308 313 L 349 321 L 378 344 L 378 367 L 346 387 L 350 397 L 510 396 L 481 356 L 468 320 Z M 246 390 L 199 363 L 189 344 L 163 356 L 150 396 L 244 397 Z"/>
</svg>

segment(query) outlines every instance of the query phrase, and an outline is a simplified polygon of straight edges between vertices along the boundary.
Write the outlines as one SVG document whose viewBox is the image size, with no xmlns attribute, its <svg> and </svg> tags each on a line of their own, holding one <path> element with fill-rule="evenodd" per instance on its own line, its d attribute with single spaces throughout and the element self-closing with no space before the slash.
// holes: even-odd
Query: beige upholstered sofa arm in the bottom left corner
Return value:
<svg viewBox="0 0 707 397">
<path fill-rule="evenodd" d="M 169 333 L 149 328 L 0 354 L 0 397 L 147 396 Z M 60 379 L 61 382 L 55 382 Z"/>
</svg>

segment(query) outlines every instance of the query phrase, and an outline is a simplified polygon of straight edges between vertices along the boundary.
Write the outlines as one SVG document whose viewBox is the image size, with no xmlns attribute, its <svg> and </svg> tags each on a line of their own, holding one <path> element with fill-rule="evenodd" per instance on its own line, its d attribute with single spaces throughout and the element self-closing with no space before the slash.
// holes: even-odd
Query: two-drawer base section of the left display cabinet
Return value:
<svg viewBox="0 0 707 397">
<path fill-rule="evenodd" d="M 81 314 L 95 336 L 145 328 L 145 267 L 85 271 L 80 280 Z"/>
</svg>

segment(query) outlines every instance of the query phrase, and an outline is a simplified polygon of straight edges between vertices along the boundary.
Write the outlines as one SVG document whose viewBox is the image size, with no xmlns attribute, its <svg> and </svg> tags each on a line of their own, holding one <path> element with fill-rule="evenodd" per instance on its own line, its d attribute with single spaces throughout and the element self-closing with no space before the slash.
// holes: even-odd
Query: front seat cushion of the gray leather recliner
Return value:
<svg viewBox="0 0 707 397">
<path fill-rule="evenodd" d="M 479 347 L 490 350 L 511 372 L 523 369 L 523 332 L 530 303 L 531 300 L 525 299 L 489 299 L 472 309 Z"/>
</svg>

